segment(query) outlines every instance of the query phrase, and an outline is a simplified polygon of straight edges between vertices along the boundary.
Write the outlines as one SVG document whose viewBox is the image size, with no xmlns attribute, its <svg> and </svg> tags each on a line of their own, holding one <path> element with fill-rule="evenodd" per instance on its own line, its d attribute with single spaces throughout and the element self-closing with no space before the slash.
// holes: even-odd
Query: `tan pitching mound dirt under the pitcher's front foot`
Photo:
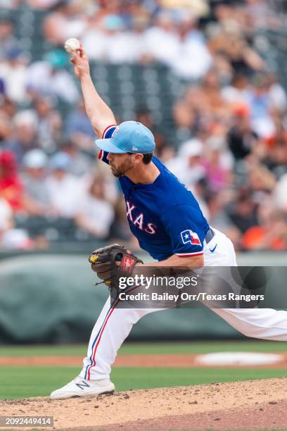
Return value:
<svg viewBox="0 0 287 431">
<path fill-rule="evenodd" d="M 131 390 L 67 400 L 7 400 L 0 401 L 0 412 L 4 416 L 53 416 L 54 429 L 285 428 L 287 378 Z"/>
</svg>

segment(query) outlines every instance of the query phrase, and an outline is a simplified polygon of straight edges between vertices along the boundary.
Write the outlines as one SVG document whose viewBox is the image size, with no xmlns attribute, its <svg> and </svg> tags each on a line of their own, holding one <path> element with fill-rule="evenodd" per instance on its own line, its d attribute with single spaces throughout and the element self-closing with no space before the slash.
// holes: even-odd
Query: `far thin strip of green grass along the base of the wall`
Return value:
<svg viewBox="0 0 287 431">
<path fill-rule="evenodd" d="M 119 354 L 204 354 L 215 351 L 287 352 L 287 343 L 265 341 L 125 343 Z M 85 356 L 87 344 L 68 346 L 0 346 L 0 356 Z"/>
</svg>

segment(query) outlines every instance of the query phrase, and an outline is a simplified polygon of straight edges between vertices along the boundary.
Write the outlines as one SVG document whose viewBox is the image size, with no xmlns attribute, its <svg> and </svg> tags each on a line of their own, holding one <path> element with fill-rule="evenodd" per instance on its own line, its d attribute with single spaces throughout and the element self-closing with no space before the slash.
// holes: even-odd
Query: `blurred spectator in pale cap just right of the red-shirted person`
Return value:
<svg viewBox="0 0 287 431">
<path fill-rule="evenodd" d="M 28 151 L 23 158 L 21 180 L 25 186 L 27 211 L 32 215 L 51 213 L 51 199 L 46 184 L 48 157 L 41 149 Z"/>
</svg>

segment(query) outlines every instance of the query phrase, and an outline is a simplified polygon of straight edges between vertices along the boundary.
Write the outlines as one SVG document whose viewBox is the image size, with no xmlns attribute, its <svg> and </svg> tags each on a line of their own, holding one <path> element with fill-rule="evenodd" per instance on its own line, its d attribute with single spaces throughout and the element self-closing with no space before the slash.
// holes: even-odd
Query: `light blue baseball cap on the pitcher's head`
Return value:
<svg viewBox="0 0 287 431">
<path fill-rule="evenodd" d="M 152 153 L 155 137 L 151 130 L 137 121 L 124 121 L 115 128 L 109 139 L 96 139 L 98 148 L 108 153 Z"/>
</svg>

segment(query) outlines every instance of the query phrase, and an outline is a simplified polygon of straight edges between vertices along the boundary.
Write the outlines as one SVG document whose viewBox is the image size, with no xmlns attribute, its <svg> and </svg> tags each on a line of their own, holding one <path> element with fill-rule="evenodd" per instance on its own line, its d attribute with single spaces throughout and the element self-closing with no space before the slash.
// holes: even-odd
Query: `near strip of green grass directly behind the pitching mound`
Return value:
<svg viewBox="0 0 287 431">
<path fill-rule="evenodd" d="M 78 373 L 75 367 L 2 367 L 0 399 L 48 396 Z M 283 368 L 114 368 L 118 391 L 285 377 Z"/>
</svg>

